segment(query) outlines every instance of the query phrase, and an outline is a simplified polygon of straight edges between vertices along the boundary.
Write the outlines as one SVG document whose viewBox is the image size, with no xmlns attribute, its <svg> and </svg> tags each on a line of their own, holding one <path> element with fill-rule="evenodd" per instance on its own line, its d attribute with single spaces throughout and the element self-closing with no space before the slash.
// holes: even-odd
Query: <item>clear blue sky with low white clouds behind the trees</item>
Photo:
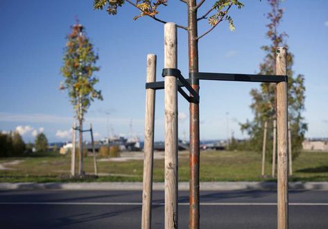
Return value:
<svg viewBox="0 0 328 229">
<path fill-rule="evenodd" d="M 207 1 L 199 15 L 210 7 Z M 266 1 L 243 1 L 245 8 L 232 9 L 236 31 L 226 23 L 200 40 L 200 71 L 257 73 L 264 58 L 260 46 L 265 37 Z M 66 92 L 58 87 L 62 76 L 62 54 L 69 26 L 78 15 L 100 57 L 96 86 L 103 101 L 92 103 L 85 124 L 92 122 L 96 138 L 108 133 L 144 135 L 144 83 L 146 55 L 157 54 L 157 80 L 162 80 L 163 24 L 138 14 L 128 5 L 115 17 L 92 8 L 92 0 L 0 1 L 0 130 L 19 130 L 26 141 L 43 131 L 51 142 L 64 141 L 73 122 L 73 108 Z M 288 45 L 295 55 L 295 74 L 306 79 L 307 137 L 328 135 L 328 1 L 286 0 L 279 31 L 288 33 Z M 187 24 L 187 10 L 180 1 L 169 1 L 158 16 L 167 22 Z M 202 22 L 199 33 L 208 25 Z M 187 77 L 187 33 L 178 30 L 178 67 Z M 247 137 L 238 122 L 252 119 L 249 92 L 258 83 L 201 82 L 200 139 Z M 164 136 L 164 100 L 156 98 L 155 139 Z M 179 99 L 179 137 L 189 135 L 189 105 Z"/>
</svg>

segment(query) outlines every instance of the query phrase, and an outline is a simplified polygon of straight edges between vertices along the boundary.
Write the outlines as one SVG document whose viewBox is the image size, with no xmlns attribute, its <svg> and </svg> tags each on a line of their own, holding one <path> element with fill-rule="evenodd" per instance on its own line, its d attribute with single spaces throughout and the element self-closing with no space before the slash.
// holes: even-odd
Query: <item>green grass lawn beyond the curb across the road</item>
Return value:
<svg viewBox="0 0 328 229">
<path fill-rule="evenodd" d="M 14 161 L 18 160 L 18 164 Z M 142 181 L 143 161 L 98 161 L 98 178 L 80 180 L 68 176 L 70 156 L 59 153 L 39 153 L 26 158 L 0 158 L 0 182 L 102 182 Z M 85 158 L 85 171 L 93 173 L 92 157 Z M 202 151 L 200 153 L 200 181 L 268 181 L 261 178 L 261 154 L 246 151 Z M 271 173 L 270 162 L 266 174 Z M 189 154 L 179 153 L 179 180 L 189 180 Z M 290 181 L 328 181 L 328 153 L 303 152 L 293 162 Z M 154 181 L 164 181 L 164 159 L 154 161 Z"/>
</svg>

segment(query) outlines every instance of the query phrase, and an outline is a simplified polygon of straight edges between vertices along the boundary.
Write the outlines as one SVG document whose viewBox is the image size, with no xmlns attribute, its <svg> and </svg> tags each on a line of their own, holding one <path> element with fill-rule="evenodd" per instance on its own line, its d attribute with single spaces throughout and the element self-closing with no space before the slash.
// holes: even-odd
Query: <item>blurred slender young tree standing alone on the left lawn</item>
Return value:
<svg viewBox="0 0 328 229">
<path fill-rule="evenodd" d="M 67 90 L 71 104 L 76 112 L 79 131 L 79 175 L 83 175 L 83 120 L 89 105 L 94 99 L 103 99 L 101 91 L 96 90 L 94 85 L 98 78 L 94 71 L 98 56 L 94 53 L 94 46 L 85 35 L 85 29 L 76 23 L 71 27 L 71 33 L 67 36 L 67 44 L 64 49 L 64 65 L 61 68 L 64 83 L 60 89 Z"/>
</svg>

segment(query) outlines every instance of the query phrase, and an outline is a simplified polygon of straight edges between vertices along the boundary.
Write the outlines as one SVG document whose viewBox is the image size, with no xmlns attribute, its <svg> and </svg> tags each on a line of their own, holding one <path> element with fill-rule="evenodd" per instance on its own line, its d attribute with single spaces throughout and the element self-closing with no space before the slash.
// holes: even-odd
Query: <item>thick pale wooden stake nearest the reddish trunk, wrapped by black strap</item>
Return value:
<svg viewBox="0 0 328 229">
<path fill-rule="evenodd" d="M 177 27 L 164 26 L 164 67 L 177 68 Z M 165 229 L 178 228 L 178 84 L 165 76 Z"/>
</svg>

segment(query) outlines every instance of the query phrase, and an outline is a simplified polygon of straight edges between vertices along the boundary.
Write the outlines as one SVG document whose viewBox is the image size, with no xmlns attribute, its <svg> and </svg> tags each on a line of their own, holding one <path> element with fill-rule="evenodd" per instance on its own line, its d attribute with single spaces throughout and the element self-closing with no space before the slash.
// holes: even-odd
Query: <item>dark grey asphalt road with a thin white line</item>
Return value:
<svg viewBox="0 0 328 229">
<path fill-rule="evenodd" d="M 273 191 L 201 192 L 200 228 L 277 228 Z M 188 228 L 188 192 L 179 228 Z M 153 228 L 164 228 L 164 192 L 153 194 Z M 328 228 L 328 191 L 289 193 L 289 228 Z M 0 228 L 140 228 L 139 191 L 1 191 Z"/>
</svg>

